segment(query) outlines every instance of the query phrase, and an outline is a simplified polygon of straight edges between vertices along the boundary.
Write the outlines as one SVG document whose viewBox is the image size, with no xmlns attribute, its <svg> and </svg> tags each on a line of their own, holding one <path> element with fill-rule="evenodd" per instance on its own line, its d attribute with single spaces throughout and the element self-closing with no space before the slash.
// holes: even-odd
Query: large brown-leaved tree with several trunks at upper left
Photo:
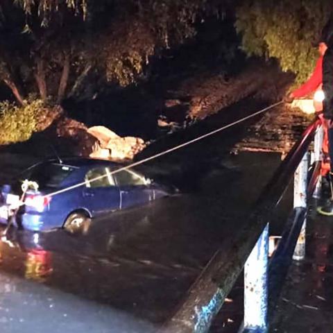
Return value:
<svg viewBox="0 0 333 333">
<path fill-rule="evenodd" d="M 61 103 L 87 83 L 126 86 L 152 56 L 222 16 L 223 0 L 1 0 L 0 80 L 23 105 L 29 94 Z"/>
</svg>

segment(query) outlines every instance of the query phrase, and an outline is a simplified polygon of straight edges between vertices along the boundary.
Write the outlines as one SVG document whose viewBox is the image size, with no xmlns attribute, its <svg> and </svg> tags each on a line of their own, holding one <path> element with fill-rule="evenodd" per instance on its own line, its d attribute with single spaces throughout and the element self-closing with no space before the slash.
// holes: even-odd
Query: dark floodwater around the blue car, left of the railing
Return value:
<svg viewBox="0 0 333 333">
<path fill-rule="evenodd" d="M 66 332 L 91 332 L 94 325 L 94 332 L 154 332 L 214 251 L 246 223 L 279 163 L 280 155 L 268 153 L 198 163 L 184 175 L 194 186 L 182 194 L 105 216 L 85 236 L 12 230 L 0 242 L 1 332 L 63 332 L 65 323 Z M 289 203 L 273 229 L 280 229 Z M 241 287 L 233 293 L 212 332 L 236 329 Z"/>
</svg>

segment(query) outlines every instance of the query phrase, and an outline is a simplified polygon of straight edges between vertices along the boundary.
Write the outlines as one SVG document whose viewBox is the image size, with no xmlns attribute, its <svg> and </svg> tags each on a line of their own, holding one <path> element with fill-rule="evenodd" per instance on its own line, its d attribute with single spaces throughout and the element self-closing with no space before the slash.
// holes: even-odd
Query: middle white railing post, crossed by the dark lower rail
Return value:
<svg viewBox="0 0 333 333">
<path fill-rule="evenodd" d="M 307 173 L 309 169 L 309 154 L 305 153 L 298 166 L 293 183 L 293 207 L 307 207 Z M 305 232 L 307 220 L 305 219 L 300 235 L 293 253 L 294 260 L 302 260 L 305 258 Z"/>
</svg>

